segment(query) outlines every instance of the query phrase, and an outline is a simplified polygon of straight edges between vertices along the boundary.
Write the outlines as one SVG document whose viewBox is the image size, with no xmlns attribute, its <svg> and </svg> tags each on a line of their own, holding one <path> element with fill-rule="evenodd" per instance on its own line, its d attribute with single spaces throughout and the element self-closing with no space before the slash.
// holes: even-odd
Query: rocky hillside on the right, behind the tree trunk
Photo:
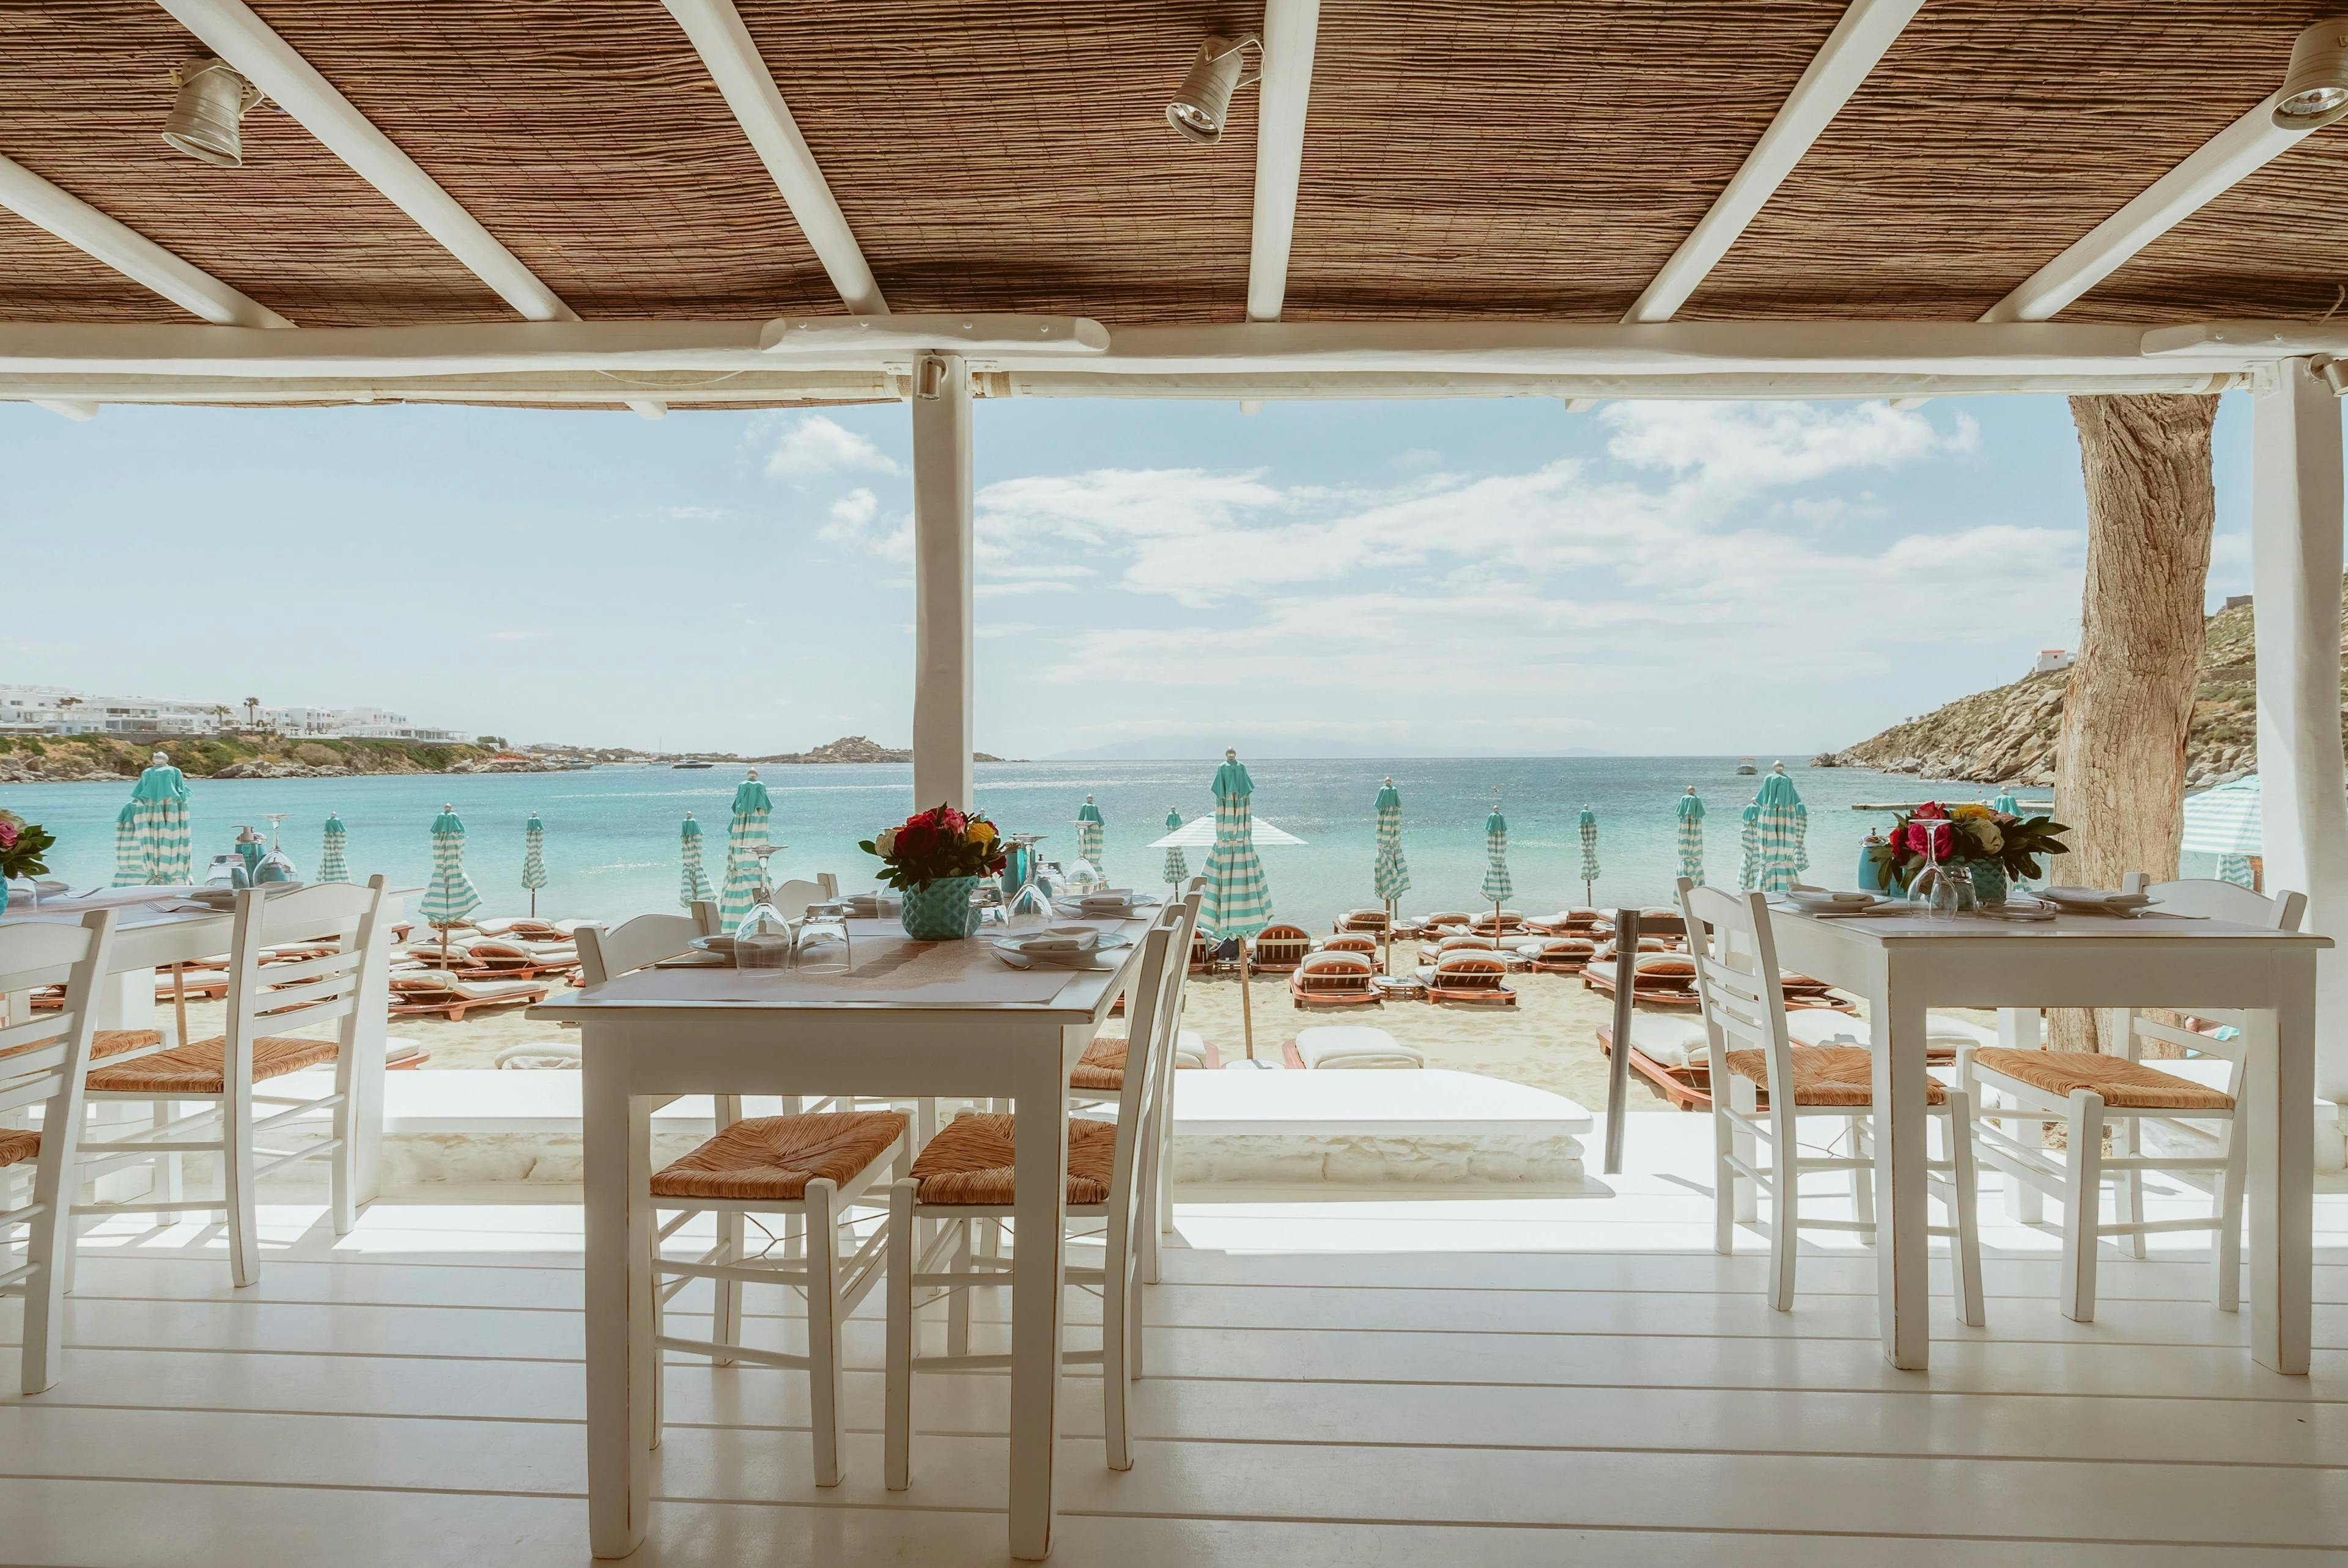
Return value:
<svg viewBox="0 0 2348 1568">
<path fill-rule="evenodd" d="M 2186 739 L 2186 782 L 2193 789 L 2221 784 L 2259 765 L 2252 608 L 2219 610 L 2202 629 L 2202 674 Z M 2348 587 L 2341 594 L 2341 650 L 2348 655 Z M 1817 765 L 2045 786 L 2054 782 L 2054 739 L 2062 735 L 2062 702 L 2069 685 L 2071 674 L 2057 671 L 1958 697 L 1848 751 L 1829 751 Z M 2341 685 L 2348 699 L 2348 678 Z M 2341 728 L 2348 739 L 2348 716 Z"/>
</svg>

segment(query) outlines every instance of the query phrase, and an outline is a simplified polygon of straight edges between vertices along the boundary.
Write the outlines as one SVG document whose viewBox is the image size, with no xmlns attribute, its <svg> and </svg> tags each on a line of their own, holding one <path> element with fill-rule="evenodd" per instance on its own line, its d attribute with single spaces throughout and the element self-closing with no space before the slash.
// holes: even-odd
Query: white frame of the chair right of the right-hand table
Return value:
<svg viewBox="0 0 2348 1568">
<path fill-rule="evenodd" d="M 2123 887 L 2148 892 L 2165 913 L 2193 915 L 2202 920 L 2231 920 L 2235 925 L 2259 925 L 2278 932 L 2296 932 L 2306 915 L 2308 899 L 2299 892 L 2266 897 L 2233 883 L 2188 878 L 2148 887 L 2141 871 L 2132 871 Z M 1968 1094 L 1993 1089 L 1998 1101 L 1979 1101 L 1975 1141 L 1982 1164 L 2003 1171 L 2010 1183 L 2019 1183 L 2024 1218 L 2043 1214 L 2043 1199 L 2062 1204 L 2062 1314 L 2087 1324 L 2094 1322 L 2094 1265 L 2104 1237 L 2125 1237 L 2132 1256 L 2146 1256 L 2144 1237 L 2170 1230 L 2214 1230 L 2212 1289 L 2209 1296 L 2221 1312 L 2242 1310 L 2242 1185 L 2247 1178 L 2249 1141 L 2238 1136 L 2242 1110 L 2242 1059 L 2240 1030 L 2247 1019 L 2240 1012 L 2195 1007 L 2193 1016 L 2214 1023 L 2231 1023 L 2235 1040 L 2195 1035 L 2158 1019 L 2146 1019 L 2130 1007 L 2113 1009 L 2111 1038 L 2127 1061 L 2141 1061 L 2141 1042 L 2160 1040 L 2181 1045 L 2200 1056 L 2224 1061 L 2217 1084 L 2233 1099 L 2233 1110 L 2155 1110 L 2134 1106 L 2106 1106 L 2094 1089 L 2073 1089 L 2054 1096 L 2036 1084 L 2026 1084 L 2008 1073 L 1998 1073 L 1975 1061 L 1972 1049 L 1958 1052 L 1958 1080 Z M 2148 1066 L 2158 1068 L 2160 1061 Z M 2181 1075 L 2179 1075 L 2181 1077 Z M 2200 1080 L 2188 1080 L 2200 1084 Z M 2005 1127 L 2019 1122 L 2019 1129 Z M 2064 1124 L 2066 1150 L 2047 1150 L 2045 1127 Z M 2207 1136 L 2209 1155 L 2146 1155 L 2144 1127 L 2155 1122 L 2184 1136 Z M 2111 1153 L 2104 1153 L 2104 1127 L 2111 1127 Z M 2033 1143 L 2026 1134 L 2036 1131 Z M 2212 1197 L 2207 1218 L 2144 1218 L 2144 1176 L 2163 1174 L 2184 1181 Z M 2113 1216 L 2104 1218 L 2104 1188 L 2113 1185 Z"/>
</svg>

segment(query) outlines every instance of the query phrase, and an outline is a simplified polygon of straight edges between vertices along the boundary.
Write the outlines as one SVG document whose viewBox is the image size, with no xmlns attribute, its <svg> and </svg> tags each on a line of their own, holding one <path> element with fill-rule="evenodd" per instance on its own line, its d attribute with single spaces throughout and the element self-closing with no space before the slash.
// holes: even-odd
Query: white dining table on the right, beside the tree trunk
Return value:
<svg viewBox="0 0 2348 1568">
<path fill-rule="evenodd" d="M 1876 1296 L 1892 1366 L 1930 1361 L 1925 1009 L 1996 1007 L 2036 1042 L 2040 1007 L 2242 1009 L 2252 1357 L 2308 1371 L 2315 1225 L 2315 953 L 2329 937 L 2146 913 L 1820 918 L 1770 906 L 1777 962 L 1867 1000 L 1876 1042 Z"/>
</svg>

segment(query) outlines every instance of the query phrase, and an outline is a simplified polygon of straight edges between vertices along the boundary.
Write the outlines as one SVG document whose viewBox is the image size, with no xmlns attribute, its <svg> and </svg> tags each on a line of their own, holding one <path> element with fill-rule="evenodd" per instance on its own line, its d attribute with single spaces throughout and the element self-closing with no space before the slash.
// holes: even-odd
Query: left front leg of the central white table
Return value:
<svg viewBox="0 0 2348 1568">
<path fill-rule="evenodd" d="M 587 1052 L 587 1540 L 596 1556 L 643 1545 L 650 1509 L 653 1120 L 627 1094 L 618 1052 Z"/>
</svg>

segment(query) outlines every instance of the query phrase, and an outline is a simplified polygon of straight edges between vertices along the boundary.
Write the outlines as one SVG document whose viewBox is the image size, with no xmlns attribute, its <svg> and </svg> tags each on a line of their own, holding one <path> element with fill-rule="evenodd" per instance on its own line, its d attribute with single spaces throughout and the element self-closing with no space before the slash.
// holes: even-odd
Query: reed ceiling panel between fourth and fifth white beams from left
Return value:
<svg viewBox="0 0 2348 1568">
<path fill-rule="evenodd" d="M 1843 0 L 1324 0 L 1289 319 L 1618 319 Z"/>
</svg>

